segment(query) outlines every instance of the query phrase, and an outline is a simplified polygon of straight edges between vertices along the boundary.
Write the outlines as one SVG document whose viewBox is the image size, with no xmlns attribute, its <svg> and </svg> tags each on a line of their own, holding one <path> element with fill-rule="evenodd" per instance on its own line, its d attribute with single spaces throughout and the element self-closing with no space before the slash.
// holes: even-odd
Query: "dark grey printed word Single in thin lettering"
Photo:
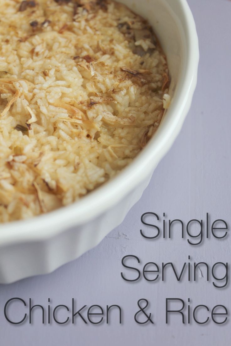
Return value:
<svg viewBox="0 0 231 346">
<path fill-rule="evenodd" d="M 150 221 L 153 223 L 150 223 Z M 210 235 L 216 239 L 223 239 L 228 235 L 228 225 L 226 221 L 217 219 L 210 222 L 208 213 L 206 213 L 205 221 L 192 219 L 185 225 L 180 219 L 166 220 L 165 213 L 163 213 L 163 220 L 161 221 L 158 214 L 146 212 L 141 216 L 141 222 L 143 225 L 148 226 L 140 230 L 142 237 L 152 240 L 161 236 L 164 239 L 171 239 L 173 233 L 180 233 L 181 238 L 184 239 L 187 237 L 187 241 L 190 245 L 199 245 L 205 237 L 208 239 Z"/>
</svg>

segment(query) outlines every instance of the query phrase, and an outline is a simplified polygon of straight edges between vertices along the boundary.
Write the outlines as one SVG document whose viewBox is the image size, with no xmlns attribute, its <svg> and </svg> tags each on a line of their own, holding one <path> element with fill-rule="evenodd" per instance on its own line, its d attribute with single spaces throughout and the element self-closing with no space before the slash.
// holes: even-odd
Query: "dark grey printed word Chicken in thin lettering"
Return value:
<svg viewBox="0 0 231 346">
<path fill-rule="evenodd" d="M 16 305 L 17 303 L 17 305 Z M 20 307 L 18 306 L 20 303 Z M 50 324 L 53 320 L 57 324 L 101 324 L 104 320 L 106 324 L 110 323 L 110 315 L 113 310 L 117 310 L 118 322 L 122 324 L 122 310 L 118 305 L 111 305 L 106 307 L 104 310 L 100 305 L 91 305 L 89 308 L 87 305 L 76 307 L 76 302 L 72 298 L 71 308 L 59 304 L 52 308 L 50 304 L 50 298 L 48 298 L 48 304 L 46 307 L 36 304 L 32 304 L 32 299 L 29 299 L 29 304 L 26 303 L 22 298 L 11 298 L 9 299 L 4 307 L 4 316 L 6 320 L 14 325 L 22 324 L 29 320 L 29 324 L 33 323 L 33 316 L 38 314 L 42 324 Z M 20 317 L 18 317 L 20 312 Z M 15 318 L 17 314 L 17 319 Z M 115 316 L 116 313 L 114 312 Z M 60 316 L 61 315 L 61 316 Z"/>
</svg>

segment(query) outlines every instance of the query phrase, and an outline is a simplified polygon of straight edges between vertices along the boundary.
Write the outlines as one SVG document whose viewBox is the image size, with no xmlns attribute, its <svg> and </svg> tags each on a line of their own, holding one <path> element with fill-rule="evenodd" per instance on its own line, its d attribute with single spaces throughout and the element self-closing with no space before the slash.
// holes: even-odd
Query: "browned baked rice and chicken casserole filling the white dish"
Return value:
<svg viewBox="0 0 231 346">
<path fill-rule="evenodd" d="M 0 0 L 0 222 L 114 177 L 168 108 L 152 28 L 109 0 Z"/>
</svg>

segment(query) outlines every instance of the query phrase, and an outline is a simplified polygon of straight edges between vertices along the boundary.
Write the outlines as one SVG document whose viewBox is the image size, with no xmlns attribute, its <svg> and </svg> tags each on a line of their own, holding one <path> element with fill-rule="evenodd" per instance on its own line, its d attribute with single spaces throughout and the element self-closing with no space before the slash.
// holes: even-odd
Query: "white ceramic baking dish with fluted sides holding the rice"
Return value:
<svg viewBox="0 0 231 346">
<path fill-rule="evenodd" d="M 140 199 L 190 108 L 199 60 L 195 22 L 186 0 L 123 0 L 148 19 L 168 59 L 171 106 L 140 155 L 114 180 L 68 207 L 0 225 L 0 282 L 49 273 L 96 246 Z"/>
</svg>

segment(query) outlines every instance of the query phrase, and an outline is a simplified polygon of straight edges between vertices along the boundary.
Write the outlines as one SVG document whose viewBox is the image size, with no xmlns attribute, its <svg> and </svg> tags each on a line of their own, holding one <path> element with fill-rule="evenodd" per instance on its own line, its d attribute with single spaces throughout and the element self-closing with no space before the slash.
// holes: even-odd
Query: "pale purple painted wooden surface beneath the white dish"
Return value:
<svg viewBox="0 0 231 346">
<path fill-rule="evenodd" d="M 230 287 L 215 289 L 206 282 L 205 273 L 198 282 L 178 283 L 168 273 L 165 282 L 126 283 L 122 280 L 121 259 L 133 254 L 146 262 L 174 262 L 182 266 L 191 256 L 192 262 L 230 262 L 230 237 L 226 240 L 204 239 L 192 247 L 179 235 L 172 240 L 154 242 L 141 237 L 140 216 L 153 211 L 160 216 L 188 221 L 211 219 L 230 220 L 230 149 L 231 149 L 231 1 L 189 0 L 200 43 L 198 85 L 192 108 L 184 127 L 167 156 L 161 161 L 142 199 L 128 213 L 121 226 L 112 231 L 95 249 L 77 261 L 54 273 L 26 279 L 11 285 L 0 285 L 0 344 L 1 345 L 230 345 L 230 323 L 217 326 L 210 322 L 199 326 L 192 322 L 182 325 L 179 318 L 165 324 L 165 298 L 190 298 L 192 307 L 207 304 L 225 305 L 231 312 Z M 85 325 L 79 318 L 76 325 L 59 326 L 54 322 L 42 326 L 40 313 L 34 315 L 33 325 L 12 326 L 3 315 L 5 302 L 12 297 L 47 306 L 77 300 L 84 304 L 119 304 L 123 308 L 123 324 L 116 314 L 110 325 Z M 140 326 L 134 322 L 137 300 L 149 300 L 148 312 L 153 312 L 155 325 Z M 15 304 L 14 317 L 24 314 Z M 59 314 L 59 316 L 65 314 Z M 86 315 L 86 314 L 85 314 Z M 205 316 L 205 315 L 203 315 Z"/>
</svg>

